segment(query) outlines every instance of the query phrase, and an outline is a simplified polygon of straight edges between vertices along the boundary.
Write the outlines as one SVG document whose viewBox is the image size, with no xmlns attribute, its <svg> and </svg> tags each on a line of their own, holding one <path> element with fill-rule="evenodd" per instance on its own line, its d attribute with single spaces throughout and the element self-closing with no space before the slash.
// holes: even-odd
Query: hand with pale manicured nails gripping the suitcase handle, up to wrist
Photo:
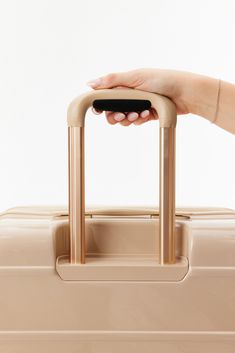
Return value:
<svg viewBox="0 0 235 353">
<path fill-rule="evenodd" d="M 104 88 L 134 88 L 142 91 L 159 93 L 169 97 L 176 105 L 178 114 L 187 114 L 189 110 L 183 101 L 183 85 L 187 75 L 186 72 L 160 69 L 138 69 L 127 72 L 111 73 L 88 82 L 93 89 Z M 102 111 L 94 111 L 97 114 Z M 120 123 L 124 126 L 130 124 L 140 125 L 146 121 L 157 119 L 154 109 L 142 112 L 106 112 L 110 124 Z"/>
</svg>

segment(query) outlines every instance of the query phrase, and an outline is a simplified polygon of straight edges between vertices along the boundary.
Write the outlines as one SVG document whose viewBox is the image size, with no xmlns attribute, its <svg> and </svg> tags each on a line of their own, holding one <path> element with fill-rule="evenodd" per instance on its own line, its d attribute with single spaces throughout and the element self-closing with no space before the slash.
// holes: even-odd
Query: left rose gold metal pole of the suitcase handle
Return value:
<svg viewBox="0 0 235 353">
<path fill-rule="evenodd" d="M 69 127 L 70 262 L 85 263 L 84 127 Z"/>
</svg>

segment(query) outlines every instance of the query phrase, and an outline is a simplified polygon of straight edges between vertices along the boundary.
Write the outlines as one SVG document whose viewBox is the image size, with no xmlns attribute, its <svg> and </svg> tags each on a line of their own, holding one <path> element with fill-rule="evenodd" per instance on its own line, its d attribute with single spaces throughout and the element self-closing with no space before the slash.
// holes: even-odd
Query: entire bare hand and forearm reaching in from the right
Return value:
<svg viewBox="0 0 235 353">
<path fill-rule="evenodd" d="M 176 70 L 137 69 L 111 73 L 89 81 L 88 85 L 93 89 L 128 87 L 162 94 L 175 103 L 178 114 L 199 115 L 235 134 L 235 85 L 232 83 L 220 81 L 219 92 L 219 80 L 208 76 Z M 105 114 L 110 124 L 124 126 L 141 125 L 158 118 L 153 109 Z"/>
</svg>

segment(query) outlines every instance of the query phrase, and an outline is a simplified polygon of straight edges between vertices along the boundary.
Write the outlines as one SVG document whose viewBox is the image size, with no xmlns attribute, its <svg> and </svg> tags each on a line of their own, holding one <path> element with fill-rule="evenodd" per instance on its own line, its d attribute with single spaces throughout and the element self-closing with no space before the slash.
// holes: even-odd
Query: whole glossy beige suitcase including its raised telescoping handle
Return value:
<svg viewBox="0 0 235 353">
<path fill-rule="evenodd" d="M 85 211 L 91 105 L 157 110 L 159 209 Z M 92 91 L 71 103 L 68 125 L 69 217 L 63 207 L 0 216 L 0 353 L 234 353 L 235 211 L 175 209 L 174 104 Z"/>
</svg>

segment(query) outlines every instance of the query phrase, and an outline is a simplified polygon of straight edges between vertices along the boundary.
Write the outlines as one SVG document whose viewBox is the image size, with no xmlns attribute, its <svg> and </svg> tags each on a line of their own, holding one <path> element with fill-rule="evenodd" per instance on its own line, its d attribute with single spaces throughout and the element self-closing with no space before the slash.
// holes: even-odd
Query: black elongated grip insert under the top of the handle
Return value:
<svg viewBox="0 0 235 353">
<path fill-rule="evenodd" d="M 92 106 L 97 110 L 139 112 L 149 110 L 151 108 L 151 102 L 144 99 L 96 99 Z"/>
</svg>

